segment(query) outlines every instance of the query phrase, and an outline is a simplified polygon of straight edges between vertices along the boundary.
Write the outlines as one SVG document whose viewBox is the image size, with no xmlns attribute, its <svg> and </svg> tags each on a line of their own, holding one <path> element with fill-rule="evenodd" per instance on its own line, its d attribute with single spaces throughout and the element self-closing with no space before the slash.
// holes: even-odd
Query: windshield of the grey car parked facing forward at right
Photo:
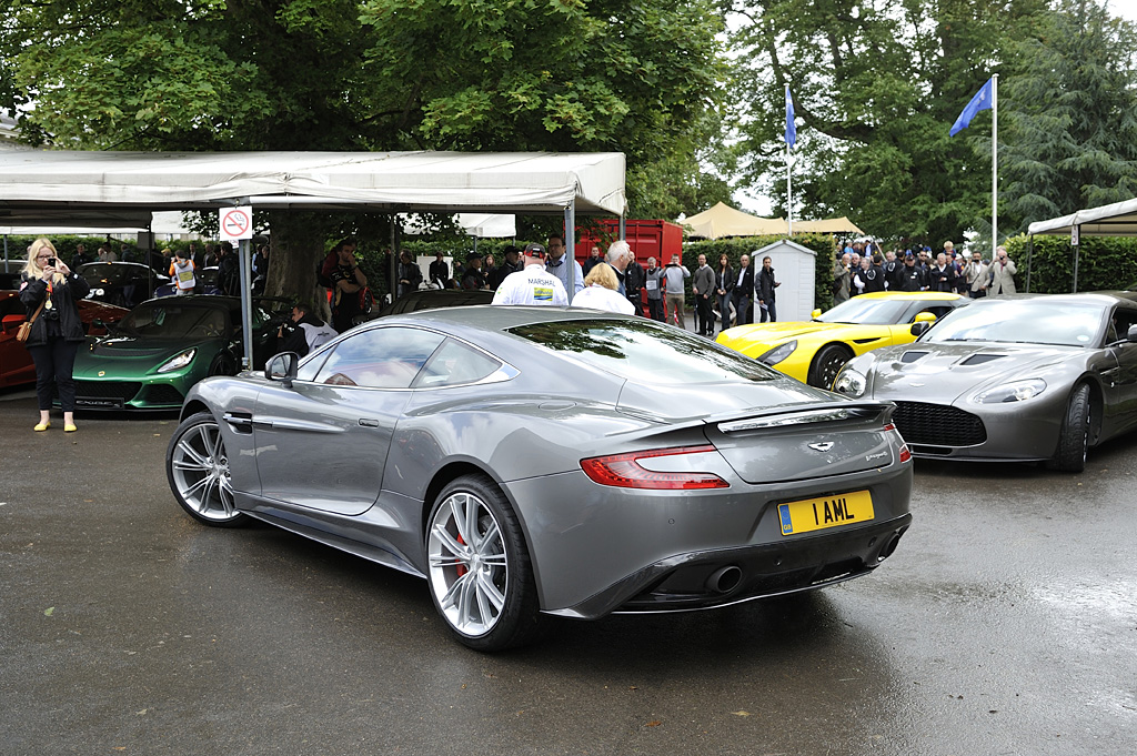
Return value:
<svg viewBox="0 0 1137 756">
<path fill-rule="evenodd" d="M 1090 347 L 1097 343 L 1104 306 L 1048 298 L 993 301 L 963 307 L 928 331 L 922 341 L 1006 341 Z"/>
</svg>

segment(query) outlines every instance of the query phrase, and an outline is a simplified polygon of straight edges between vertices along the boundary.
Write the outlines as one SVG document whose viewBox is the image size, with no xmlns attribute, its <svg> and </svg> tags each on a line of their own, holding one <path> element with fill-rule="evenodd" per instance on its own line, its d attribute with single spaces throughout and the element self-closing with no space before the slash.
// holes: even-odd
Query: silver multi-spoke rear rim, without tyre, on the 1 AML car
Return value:
<svg viewBox="0 0 1137 756">
<path fill-rule="evenodd" d="M 426 541 L 428 576 L 446 621 L 464 635 L 493 630 L 509 593 L 501 526 L 490 508 L 455 491 L 434 510 Z"/>
</svg>

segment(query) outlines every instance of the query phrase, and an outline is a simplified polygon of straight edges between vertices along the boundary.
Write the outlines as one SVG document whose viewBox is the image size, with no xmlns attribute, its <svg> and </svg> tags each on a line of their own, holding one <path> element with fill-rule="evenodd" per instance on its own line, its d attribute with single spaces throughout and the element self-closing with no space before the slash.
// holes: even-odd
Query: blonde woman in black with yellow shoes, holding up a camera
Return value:
<svg viewBox="0 0 1137 756">
<path fill-rule="evenodd" d="M 51 427 L 52 385 L 59 389 L 64 431 L 70 433 L 78 430 L 75 427 L 72 369 L 75 354 L 84 339 L 78 300 L 89 291 L 91 286 L 58 258 L 49 240 L 41 236 L 32 242 L 19 284 L 19 300 L 32 319 L 32 330 L 24 346 L 32 352 L 35 363 L 35 394 L 40 402 L 36 431 Z"/>
</svg>

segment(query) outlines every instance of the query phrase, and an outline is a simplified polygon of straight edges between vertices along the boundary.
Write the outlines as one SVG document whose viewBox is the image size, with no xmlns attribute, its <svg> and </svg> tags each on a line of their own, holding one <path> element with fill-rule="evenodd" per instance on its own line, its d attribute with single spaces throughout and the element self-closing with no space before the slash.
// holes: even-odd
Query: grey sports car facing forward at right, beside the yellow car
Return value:
<svg viewBox="0 0 1137 756">
<path fill-rule="evenodd" d="M 895 401 L 914 456 L 1081 472 L 1088 449 L 1137 424 L 1135 324 L 1137 302 L 1109 292 L 984 299 L 850 360 L 833 389 Z"/>
</svg>

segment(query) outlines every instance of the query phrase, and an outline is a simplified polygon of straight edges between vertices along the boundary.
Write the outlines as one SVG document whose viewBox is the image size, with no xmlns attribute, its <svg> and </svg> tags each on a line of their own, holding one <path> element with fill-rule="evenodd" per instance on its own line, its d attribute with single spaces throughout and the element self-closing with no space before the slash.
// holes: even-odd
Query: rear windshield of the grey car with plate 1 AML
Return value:
<svg viewBox="0 0 1137 756">
<path fill-rule="evenodd" d="M 780 376 L 737 351 L 653 321 L 559 321 L 509 333 L 641 383 L 738 383 Z"/>
</svg>

